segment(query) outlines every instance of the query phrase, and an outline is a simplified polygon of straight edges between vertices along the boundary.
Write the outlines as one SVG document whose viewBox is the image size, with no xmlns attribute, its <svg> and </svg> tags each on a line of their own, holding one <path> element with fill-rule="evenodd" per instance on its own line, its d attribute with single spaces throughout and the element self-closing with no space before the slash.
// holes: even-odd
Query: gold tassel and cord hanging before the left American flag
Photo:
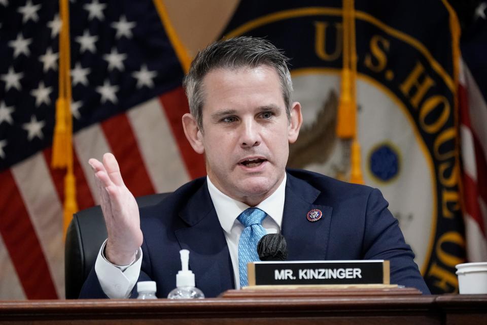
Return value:
<svg viewBox="0 0 487 325">
<path fill-rule="evenodd" d="M 71 58 L 69 53 L 68 0 L 59 0 L 59 97 L 56 101 L 56 124 L 52 142 L 52 168 L 66 168 L 64 176 L 63 232 L 78 211 L 76 179 L 73 171 L 73 117 L 71 114 Z"/>
</svg>

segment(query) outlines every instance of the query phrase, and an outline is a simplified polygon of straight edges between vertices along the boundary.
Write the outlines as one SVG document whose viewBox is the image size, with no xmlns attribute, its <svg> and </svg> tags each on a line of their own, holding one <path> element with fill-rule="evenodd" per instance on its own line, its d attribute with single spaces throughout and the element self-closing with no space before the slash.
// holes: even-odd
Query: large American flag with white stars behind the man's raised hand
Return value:
<svg viewBox="0 0 487 325">
<path fill-rule="evenodd" d="M 87 160 L 105 152 L 135 196 L 204 174 L 181 127 L 184 73 L 157 5 L 69 2 L 80 210 L 98 204 Z M 50 168 L 61 26 L 55 1 L 0 0 L 0 299 L 64 297 L 65 172 Z"/>
</svg>

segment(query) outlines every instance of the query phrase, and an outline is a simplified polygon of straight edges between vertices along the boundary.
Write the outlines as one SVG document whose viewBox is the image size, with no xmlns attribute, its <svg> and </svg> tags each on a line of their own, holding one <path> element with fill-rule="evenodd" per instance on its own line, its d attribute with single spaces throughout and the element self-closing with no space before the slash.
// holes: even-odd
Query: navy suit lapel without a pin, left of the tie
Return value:
<svg viewBox="0 0 487 325">
<path fill-rule="evenodd" d="M 181 248 L 191 252 L 189 264 L 196 286 L 208 297 L 234 288 L 230 253 L 206 182 L 190 198 L 180 217 L 188 227 L 175 235 Z"/>
</svg>

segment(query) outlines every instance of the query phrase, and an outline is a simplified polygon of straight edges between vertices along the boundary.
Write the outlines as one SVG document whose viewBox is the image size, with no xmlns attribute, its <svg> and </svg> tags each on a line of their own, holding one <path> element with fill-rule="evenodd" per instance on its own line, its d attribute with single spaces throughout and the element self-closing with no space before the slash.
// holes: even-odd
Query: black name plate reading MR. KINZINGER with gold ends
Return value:
<svg viewBox="0 0 487 325">
<path fill-rule="evenodd" d="M 249 286 L 390 284 L 389 261 L 279 261 L 248 264 Z"/>
</svg>

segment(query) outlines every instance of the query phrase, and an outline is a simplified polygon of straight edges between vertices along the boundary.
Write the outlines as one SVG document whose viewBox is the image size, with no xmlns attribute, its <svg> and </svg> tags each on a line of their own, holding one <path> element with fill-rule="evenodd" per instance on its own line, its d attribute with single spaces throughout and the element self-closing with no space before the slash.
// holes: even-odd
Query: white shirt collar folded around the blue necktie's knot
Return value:
<svg viewBox="0 0 487 325">
<path fill-rule="evenodd" d="M 284 199 L 286 194 L 286 179 L 287 175 L 284 173 L 284 178 L 279 187 L 270 194 L 270 196 L 259 203 L 256 208 L 261 209 L 268 216 L 270 216 L 275 223 L 281 229 L 281 224 L 283 221 L 283 211 L 284 211 Z M 226 194 L 222 193 L 215 185 L 213 185 L 210 177 L 206 176 L 206 182 L 208 184 L 208 191 L 210 191 L 210 197 L 212 198 L 213 205 L 217 212 L 218 220 L 223 230 L 230 233 L 235 219 L 243 211 L 250 208 L 247 204 L 230 198 Z"/>
</svg>

